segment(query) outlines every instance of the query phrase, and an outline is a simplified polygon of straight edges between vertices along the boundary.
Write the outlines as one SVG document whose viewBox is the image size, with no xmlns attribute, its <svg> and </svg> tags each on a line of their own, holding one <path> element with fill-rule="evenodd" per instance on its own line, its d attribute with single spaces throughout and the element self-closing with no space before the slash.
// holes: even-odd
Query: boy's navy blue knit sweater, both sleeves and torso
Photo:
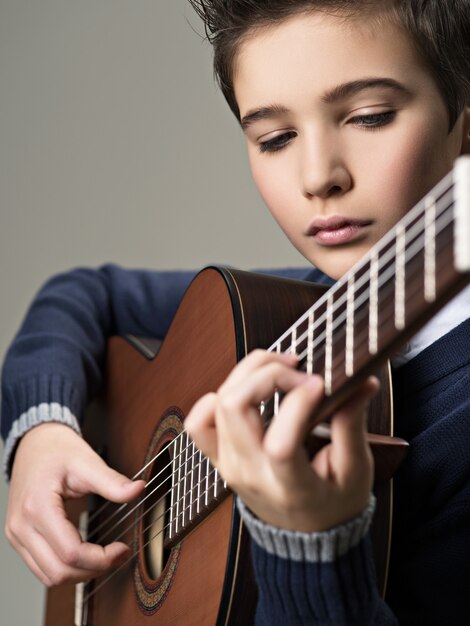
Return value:
<svg viewBox="0 0 470 626">
<path fill-rule="evenodd" d="M 316 270 L 283 275 L 317 282 Z M 76 270 L 40 291 L 4 364 L 8 458 L 38 421 L 75 424 L 99 390 L 106 340 L 163 337 L 192 273 Z M 470 321 L 394 374 L 395 430 L 410 453 L 395 481 L 392 563 L 383 602 L 366 536 L 333 561 L 286 558 L 253 543 L 257 624 L 467 624 L 470 563 Z M 53 407 L 53 408 L 51 408 Z M 77 424 L 78 428 L 78 424 Z M 395 614 L 395 616 L 394 616 Z"/>
</svg>

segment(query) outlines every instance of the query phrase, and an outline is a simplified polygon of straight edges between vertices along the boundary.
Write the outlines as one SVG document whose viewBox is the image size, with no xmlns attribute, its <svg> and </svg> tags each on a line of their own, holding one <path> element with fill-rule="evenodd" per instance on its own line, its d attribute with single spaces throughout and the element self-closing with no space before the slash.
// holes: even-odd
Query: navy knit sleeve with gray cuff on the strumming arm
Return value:
<svg viewBox="0 0 470 626">
<path fill-rule="evenodd" d="M 2 370 L 1 433 L 8 477 L 16 443 L 54 421 L 76 431 L 103 380 L 111 335 L 164 337 L 192 272 L 76 269 L 39 291 Z"/>
</svg>

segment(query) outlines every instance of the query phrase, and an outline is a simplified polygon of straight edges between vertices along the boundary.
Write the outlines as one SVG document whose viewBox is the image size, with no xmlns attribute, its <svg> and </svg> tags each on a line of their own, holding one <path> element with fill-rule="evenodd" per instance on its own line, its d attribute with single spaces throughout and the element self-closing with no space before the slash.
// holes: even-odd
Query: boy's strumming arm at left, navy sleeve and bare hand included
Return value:
<svg viewBox="0 0 470 626">
<path fill-rule="evenodd" d="M 5 531 L 46 585 L 92 578 L 128 557 L 122 543 L 82 542 L 65 514 L 68 498 L 97 493 L 125 502 L 143 487 L 114 472 L 80 437 L 81 417 L 102 383 L 107 338 L 163 337 L 191 278 L 115 266 L 57 276 L 39 292 L 7 354 Z"/>
</svg>

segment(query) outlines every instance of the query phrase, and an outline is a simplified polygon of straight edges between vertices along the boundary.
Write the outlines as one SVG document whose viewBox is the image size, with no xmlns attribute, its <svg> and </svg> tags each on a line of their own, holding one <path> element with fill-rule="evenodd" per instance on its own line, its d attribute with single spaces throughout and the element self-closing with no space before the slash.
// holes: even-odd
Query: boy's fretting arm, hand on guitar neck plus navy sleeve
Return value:
<svg viewBox="0 0 470 626">
<path fill-rule="evenodd" d="M 332 418 L 332 442 L 309 459 L 303 447 L 323 386 L 287 355 L 255 352 L 186 420 L 195 443 L 239 494 L 253 538 L 257 624 L 391 625 L 380 599 L 368 528 L 372 459 L 367 381 Z M 265 429 L 261 400 L 286 395 Z"/>
</svg>

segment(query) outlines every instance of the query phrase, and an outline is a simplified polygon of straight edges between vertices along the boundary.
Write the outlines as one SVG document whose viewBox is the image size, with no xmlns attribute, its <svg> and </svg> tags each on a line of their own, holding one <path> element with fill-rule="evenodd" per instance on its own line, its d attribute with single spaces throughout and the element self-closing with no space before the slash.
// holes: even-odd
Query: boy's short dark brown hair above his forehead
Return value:
<svg viewBox="0 0 470 626">
<path fill-rule="evenodd" d="M 233 65 L 253 29 L 309 10 L 357 15 L 385 7 L 409 34 L 444 99 L 452 129 L 470 96 L 470 0 L 189 0 L 214 50 L 214 73 L 231 110 L 240 111 Z"/>
</svg>

